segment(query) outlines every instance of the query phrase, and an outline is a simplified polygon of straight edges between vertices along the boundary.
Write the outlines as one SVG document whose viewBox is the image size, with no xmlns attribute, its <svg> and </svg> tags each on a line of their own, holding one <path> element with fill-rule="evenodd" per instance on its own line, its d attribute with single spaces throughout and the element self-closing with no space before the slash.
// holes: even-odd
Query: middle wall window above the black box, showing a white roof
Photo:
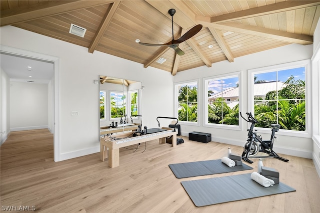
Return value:
<svg viewBox="0 0 320 213">
<path fill-rule="evenodd" d="M 204 119 L 206 125 L 239 125 L 239 73 L 206 78 Z"/>
</svg>

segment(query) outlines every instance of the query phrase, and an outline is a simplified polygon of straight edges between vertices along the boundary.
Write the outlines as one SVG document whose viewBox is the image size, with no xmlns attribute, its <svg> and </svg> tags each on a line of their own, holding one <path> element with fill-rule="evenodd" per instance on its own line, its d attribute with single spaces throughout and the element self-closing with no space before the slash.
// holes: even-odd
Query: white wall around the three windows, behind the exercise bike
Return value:
<svg viewBox="0 0 320 213">
<path fill-rule="evenodd" d="M 258 52 L 234 59 L 234 62 L 222 61 L 212 64 L 212 67 L 206 66 L 178 72 L 174 77 L 174 82 L 181 82 L 195 79 L 199 81 L 199 88 L 202 91 L 202 78 L 209 76 L 217 76 L 226 73 L 241 72 L 241 103 L 240 110 L 249 112 L 248 106 L 248 82 L 247 70 L 259 67 L 271 66 L 276 64 L 288 63 L 304 59 L 310 59 L 312 56 L 312 45 L 290 44 L 275 49 Z M 198 95 L 198 102 L 203 103 L 202 93 Z M 247 123 L 240 119 L 241 130 L 217 129 L 211 127 L 203 127 L 203 107 L 198 106 L 199 126 L 181 125 L 182 135 L 187 135 L 191 131 L 199 131 L 211 133 L 212 141 L 221 143 L 234 144 L 243 146 L 247 138 Z M 270 131 L 271 132 L 271 131 Z M 269 139 L 268 134 L 261 134 L 263 139 Z M 280 135 L 280 131 L 276 134 L 277 139 L 274 142 L 274 151 L 283 154 L 295 155 L 305 158 L 312 157 L 312 140 L 311 137 L 300 138 Z M 241 154 L 241 153 L 239 153 Z"/>
</svg>

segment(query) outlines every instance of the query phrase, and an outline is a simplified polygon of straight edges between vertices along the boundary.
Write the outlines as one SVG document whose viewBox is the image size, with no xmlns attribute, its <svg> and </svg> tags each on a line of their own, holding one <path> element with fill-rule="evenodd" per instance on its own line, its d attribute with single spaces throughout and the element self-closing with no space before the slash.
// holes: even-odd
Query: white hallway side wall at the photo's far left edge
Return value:
<svg viewBox="0 0 320 213">
<path fill-rule="evenodd" d="M 10 117 L 9 117 L 9 76 L 0 69 L 0 145 L 7 139 L 10 134 Z"/>
</svg>

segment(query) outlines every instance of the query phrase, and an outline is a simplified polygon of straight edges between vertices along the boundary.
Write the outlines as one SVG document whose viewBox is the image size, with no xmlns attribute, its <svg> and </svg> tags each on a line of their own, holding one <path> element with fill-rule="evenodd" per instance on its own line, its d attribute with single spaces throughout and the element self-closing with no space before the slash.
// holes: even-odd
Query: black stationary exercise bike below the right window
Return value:
<svg viewBox="0 0 320 213">
<path fill-rule="evenodd" d="M 248 138 L 243 146 L 243 152 L 242 152 L 242 159 L 244 161 L 247 161 L 248 163 L 252 164 L 253 161 L 251 161 L 249 158 L 277 158 L 281 161 L 288 162 L 289 160 L 282 158 L 278 156 L 273 150 L 273 142 L 276 138 L 274 136 L 275 132 L 277 132 L 280 128 L 279 124 L 271 124 L 271 138 L 270 140 L 262 140 L 262 137 L 260 135 L 256 134 L 256 130 L 254 130 L 254 125 L 258 123 L 258 121 L 252 116 L 251 112 L 245 113 L 248 118 L 245 119 L 242 117 L 242 114 L 240 112 L 240 116 L 246 121 L 251 123 L 250 129 L 248 129 Z M 256 156 L 258 152 L 263 152 L 268 154 L 268 156 Z"/>
</svg>

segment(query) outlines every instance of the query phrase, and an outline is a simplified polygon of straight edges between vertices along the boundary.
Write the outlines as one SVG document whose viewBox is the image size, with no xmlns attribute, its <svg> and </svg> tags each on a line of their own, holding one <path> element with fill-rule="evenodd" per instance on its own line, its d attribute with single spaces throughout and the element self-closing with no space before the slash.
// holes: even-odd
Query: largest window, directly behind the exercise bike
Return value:
<svg viewBox="0 0 320 213">
<path fill-rule="evenodd" d="M 253 70 L 251 74 L 252 111 L 258 120 L 256 127 L 305 132 L 307 63 L 294 62 Z M 252 112 L 252 113 L 253 113 Z"/>
</svg>

